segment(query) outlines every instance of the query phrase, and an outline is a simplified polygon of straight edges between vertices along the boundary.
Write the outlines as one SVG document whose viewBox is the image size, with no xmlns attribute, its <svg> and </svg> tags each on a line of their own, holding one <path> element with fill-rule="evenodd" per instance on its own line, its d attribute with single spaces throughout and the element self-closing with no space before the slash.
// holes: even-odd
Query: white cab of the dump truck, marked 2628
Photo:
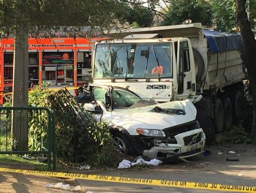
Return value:
<svg viewBox="0 0 256 193">
<path fill-rule="evenodd" d="M 143 99 L 185 100 L 196 92 L 194 58 L 187 38 L 137 39 L 95 44 L 93 83 L 129 88 Z M 131 39 L 132 38 L 132 39 Z"/>
</svg>

